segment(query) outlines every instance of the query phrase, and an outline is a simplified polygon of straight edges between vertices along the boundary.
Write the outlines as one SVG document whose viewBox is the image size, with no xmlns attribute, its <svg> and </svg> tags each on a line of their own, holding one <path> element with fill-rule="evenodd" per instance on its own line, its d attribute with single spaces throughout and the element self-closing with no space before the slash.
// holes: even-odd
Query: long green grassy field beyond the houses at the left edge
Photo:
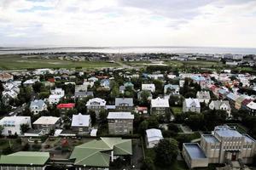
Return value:
<svg viewBox="0 0 256 170">
<path fill-rule="evenodd" d="M 18 56 L 0 57 L 0 69 L 3 70 L 22 70 L 36 68 L 76 68 L 96 69 L 102 67 L 118 67 L 116 63 L 95 62 L 95 61 L 70 61 L 60 59 L 23 59 Z"/>
</svg>

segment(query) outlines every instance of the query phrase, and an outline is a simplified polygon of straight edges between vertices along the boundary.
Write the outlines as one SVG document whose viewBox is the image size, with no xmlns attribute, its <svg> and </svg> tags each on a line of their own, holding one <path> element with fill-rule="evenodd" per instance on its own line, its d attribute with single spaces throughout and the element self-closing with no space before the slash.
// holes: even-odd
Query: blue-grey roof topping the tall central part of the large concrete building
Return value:
<svg viewBox="0 0 256 170">
<path fill-rule="evenodd" d="M 229 126 L 218 126 L 214 128 L 214 132 L 217 133 L 220 137 L 242 137 L 241 133 L 236 131 L 236 129 L 233 129 Z"/>
</svg>

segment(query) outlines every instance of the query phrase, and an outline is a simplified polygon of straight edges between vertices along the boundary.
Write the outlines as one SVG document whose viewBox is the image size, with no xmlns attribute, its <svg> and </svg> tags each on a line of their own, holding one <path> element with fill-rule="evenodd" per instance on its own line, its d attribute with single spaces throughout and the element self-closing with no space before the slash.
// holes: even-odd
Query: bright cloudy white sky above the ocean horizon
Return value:
<svg viewBox="0 0 256 170">
<path fill-rule="evenodd" d="M 256 48 L 256 0 L 0 0 L 0 47 Z"/>
</svg>

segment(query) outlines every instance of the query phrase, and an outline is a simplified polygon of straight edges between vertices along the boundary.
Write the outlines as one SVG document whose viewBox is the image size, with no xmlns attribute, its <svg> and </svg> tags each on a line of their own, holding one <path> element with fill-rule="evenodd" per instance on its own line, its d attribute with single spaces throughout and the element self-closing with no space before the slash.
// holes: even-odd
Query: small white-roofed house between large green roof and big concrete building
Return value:
<svg viewBox="0 0 256 170">
<path fill-rule="evenodd" d="M 146 130 L 146 135 L 148 148 L 154 148 L 154 146 L 159 143 L 160 139 L 164 139 L 161 130 L 156 128 Z"/>
</svg>

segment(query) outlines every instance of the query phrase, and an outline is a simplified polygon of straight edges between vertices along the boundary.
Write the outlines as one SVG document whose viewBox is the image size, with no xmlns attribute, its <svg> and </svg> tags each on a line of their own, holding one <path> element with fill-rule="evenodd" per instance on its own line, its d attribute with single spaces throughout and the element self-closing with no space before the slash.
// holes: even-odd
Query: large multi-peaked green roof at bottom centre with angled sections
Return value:
<svg viewBox="0 0 256 170">
<path fill-rule="evenodd" d="M 101 138 L 76 146 L 70 156 L 75 159 L 74 165 L 90 167 L 109 167 L 110 155 L 132 155 L 131 139 Z"/>
</svg>

